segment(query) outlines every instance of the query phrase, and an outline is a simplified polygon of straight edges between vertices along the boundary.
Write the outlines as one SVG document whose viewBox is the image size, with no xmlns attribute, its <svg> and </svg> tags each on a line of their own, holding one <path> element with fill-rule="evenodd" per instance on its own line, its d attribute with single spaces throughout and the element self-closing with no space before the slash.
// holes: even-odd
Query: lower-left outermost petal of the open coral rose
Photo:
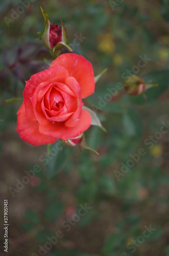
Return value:
<svg viewBox="0 0 169 256">
<path fill-rule="evenodd" d="M 54 143 L 57 141 L 56 138 L 39 133 L 38 121 L 31 121 L 27 119 L 24 102 L 21 104 L 17 115 L 16 131 L 22 140 L 25 140 L 34 146 Z"/>
</svg>

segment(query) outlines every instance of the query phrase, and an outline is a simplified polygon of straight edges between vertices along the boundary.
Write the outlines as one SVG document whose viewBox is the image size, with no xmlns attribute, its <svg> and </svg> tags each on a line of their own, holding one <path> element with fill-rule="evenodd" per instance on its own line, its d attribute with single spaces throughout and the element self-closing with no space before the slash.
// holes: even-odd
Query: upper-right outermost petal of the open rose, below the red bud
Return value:
<svg viewBox="0 0 169 256">
<path fill-rule="evenodd" d="M 82 99 L 94 93 L 95 82 L 91 63 L 76 53 L 64 53 L 52 61 L 51 67 L 65 67 L 69 76 L 73 76 L 81 87 Z"/>
</svg>

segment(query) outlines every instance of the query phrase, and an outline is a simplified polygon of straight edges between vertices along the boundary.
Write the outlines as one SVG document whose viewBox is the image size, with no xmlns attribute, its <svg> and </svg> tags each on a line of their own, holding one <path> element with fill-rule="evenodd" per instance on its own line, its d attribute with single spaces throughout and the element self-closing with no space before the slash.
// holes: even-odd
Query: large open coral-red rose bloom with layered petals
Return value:
<svg viewBox="0 0 169 256">
<path fill-rule="evenodd" d="M 90 114 L 82 99 L 94 93 L 91 63 L 75 53 L 62 54 L 49 69 L 26 81 L 17 112 L 17 132 L 33 145 L 75 138 L 88 129 Z"/>
</svg>

